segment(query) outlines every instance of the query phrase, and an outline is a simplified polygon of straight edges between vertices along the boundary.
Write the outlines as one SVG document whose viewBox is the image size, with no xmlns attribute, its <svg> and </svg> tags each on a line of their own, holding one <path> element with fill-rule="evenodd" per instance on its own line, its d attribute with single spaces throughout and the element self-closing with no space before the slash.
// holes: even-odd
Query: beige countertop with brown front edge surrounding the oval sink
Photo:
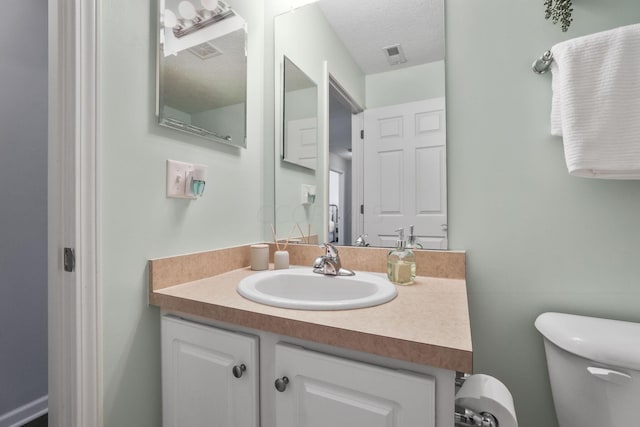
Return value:
<svg viewBox="0 0 640 427">
<path fill-rule="evenodd" d="M 464 279 L 419 276 L 375 307 L 290 310 L 258 304 L 236 292 L 248 267 L 154 289 L 163 310 L 201 316 L 322 344 L 409 362 L 472 372 L 471 328 Z"/>
</svg>

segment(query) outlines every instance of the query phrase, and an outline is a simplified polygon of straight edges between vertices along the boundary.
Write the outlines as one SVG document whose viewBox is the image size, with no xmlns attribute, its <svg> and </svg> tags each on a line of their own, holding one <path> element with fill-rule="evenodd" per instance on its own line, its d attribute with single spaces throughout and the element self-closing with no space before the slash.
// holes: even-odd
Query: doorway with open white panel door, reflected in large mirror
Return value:
<svg viewBox="0 0 640 427">
<path fill-rule="evenodd" d="M 446 249 L 445 99 L 359 111 L 332 80 L 329 241 L 393 247 L 413 225 L 420 248 Z"/>
</svg>

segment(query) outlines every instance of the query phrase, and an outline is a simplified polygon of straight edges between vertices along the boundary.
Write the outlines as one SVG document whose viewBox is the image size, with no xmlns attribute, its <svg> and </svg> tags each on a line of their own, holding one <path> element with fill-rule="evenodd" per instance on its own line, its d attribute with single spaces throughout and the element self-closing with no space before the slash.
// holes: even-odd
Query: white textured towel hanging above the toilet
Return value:
<svg viewBox="0 0 640 427">
<path fill-rule="evenodd" d="M 569 173 L 640 179 L 640 24 L 555 45 L 551 133 Z"/>
</svg>

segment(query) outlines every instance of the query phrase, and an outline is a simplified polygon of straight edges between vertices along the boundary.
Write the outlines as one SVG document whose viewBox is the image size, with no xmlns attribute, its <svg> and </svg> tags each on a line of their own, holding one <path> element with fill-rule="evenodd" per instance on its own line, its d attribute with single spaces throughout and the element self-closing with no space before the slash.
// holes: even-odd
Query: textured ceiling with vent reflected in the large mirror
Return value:
<svg viewBox="0 0 640 427">
<path fill-rule="evenodd" d="M 365 74 L 444 59 L 443 0 L 320 0 L 318 5 Z M 383 48 L 401 44 L 391 66 Z"/>
</svg>

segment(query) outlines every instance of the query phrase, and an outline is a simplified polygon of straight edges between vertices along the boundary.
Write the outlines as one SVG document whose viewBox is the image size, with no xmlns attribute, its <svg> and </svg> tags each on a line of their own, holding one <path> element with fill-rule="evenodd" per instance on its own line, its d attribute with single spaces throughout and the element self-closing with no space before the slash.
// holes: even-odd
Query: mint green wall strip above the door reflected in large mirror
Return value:
<svg viewBox="0 0 640 427">
<path fill-rule="evenodd" d="M 369 74 L 366 107 L 377 108 L 445 96 L 444 61 Z"/>
</svg>

